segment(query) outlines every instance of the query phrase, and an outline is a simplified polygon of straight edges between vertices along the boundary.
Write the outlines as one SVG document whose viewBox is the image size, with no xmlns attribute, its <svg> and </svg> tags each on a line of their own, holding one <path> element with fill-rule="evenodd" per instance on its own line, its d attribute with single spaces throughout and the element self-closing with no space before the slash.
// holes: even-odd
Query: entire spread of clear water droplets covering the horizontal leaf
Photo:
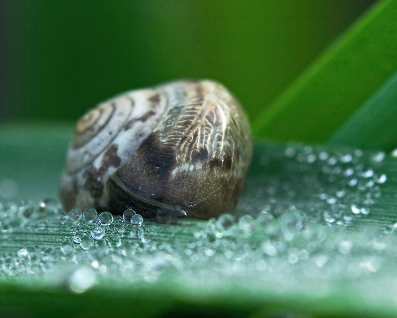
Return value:
<svg viewBox="0 0 397 318">
<path fill-rule="evenodd" d="M 288 289 L 308 279 L 390 271 L 397 261 L 394 222 L 390 231 L 350 229 L 382 194 L 384 157 L 308 146 L 268 149 L 259 160 L 269 169 L 249 177 L 233 215 L 209 221 L 160 224 L 132 209 L 122 216 L 91 208 L 66 212 L 54 199 L 4 204 L 0 278 L 42 279 L 44 273 L 63 277 L 80 293 L 101 281 L 119 286 L 161 277 L 219 284 L 219 277 L 233 276 L 250 287 Z"/>
</svg>

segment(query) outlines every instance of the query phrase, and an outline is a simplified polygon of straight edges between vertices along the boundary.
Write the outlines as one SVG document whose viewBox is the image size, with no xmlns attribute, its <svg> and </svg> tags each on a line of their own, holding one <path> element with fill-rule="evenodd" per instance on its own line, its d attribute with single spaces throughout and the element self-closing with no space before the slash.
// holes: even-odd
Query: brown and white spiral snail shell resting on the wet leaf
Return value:
<svg viewBox="0 0 397 318">
<path fill-rule="evenodd" d="M 122 93 L 81 117 L 66 157 L 64 207 L 208 219 L 233 209 L 251 163 L 236 99 L 209 80 Z"/>
</svg>

